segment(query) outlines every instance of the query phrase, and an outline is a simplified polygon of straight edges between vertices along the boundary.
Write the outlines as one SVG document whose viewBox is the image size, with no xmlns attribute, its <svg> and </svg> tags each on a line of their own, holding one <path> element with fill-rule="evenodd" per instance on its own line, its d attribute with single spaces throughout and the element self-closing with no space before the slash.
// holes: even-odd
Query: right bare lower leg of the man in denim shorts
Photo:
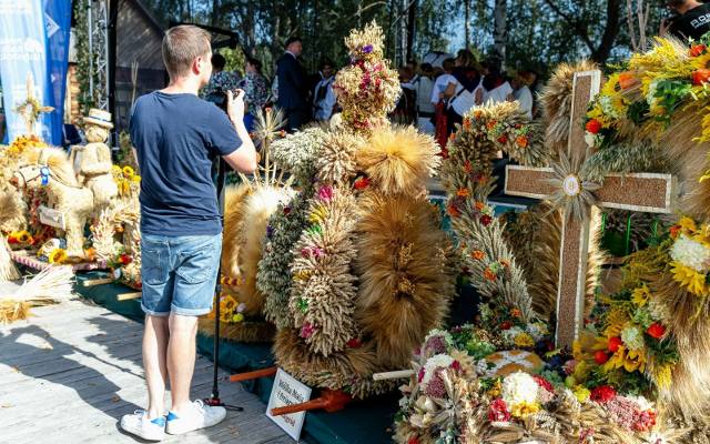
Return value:
<svg viewBox="0 0 710 444">
<path fill-rule="evenodd" d="M 170 342 L 168 343 L 168 372 L 172 394 L 171 411 L 180 415 L 191 408 L 190 385 L 195 367 L 195 336 L 197 316 L 170 314 Z"/>
</svg>

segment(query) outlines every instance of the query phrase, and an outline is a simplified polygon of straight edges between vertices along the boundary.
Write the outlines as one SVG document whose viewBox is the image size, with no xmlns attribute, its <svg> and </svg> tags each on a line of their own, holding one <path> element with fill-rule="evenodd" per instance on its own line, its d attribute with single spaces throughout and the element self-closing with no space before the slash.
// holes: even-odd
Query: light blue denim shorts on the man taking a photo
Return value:
<svg viewBox="0 0 710 444">
<path fill-rule="evenodd" d="M 212 311 L 220 269 L 222 234 L 161 236 L 143 234 L 141 307 L 153 316 L 170 312 L 199 316 Z"/>
</svg>

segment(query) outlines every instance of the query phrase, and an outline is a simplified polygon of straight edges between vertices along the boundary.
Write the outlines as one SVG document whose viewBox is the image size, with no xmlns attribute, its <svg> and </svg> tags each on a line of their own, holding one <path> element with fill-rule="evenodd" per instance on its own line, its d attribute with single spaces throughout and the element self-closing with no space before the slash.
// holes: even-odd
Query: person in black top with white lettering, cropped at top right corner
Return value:
<svg viewBox="0 0 710 444">
<path fill-rule="evenodd" d="M 680 40 L 698 40 L 710 31 L 710 4 L 698 0 L 667 0 L 666 6 L 677 16 L 665 19 L 660 34 L 670 33 Z"/>
</svg>

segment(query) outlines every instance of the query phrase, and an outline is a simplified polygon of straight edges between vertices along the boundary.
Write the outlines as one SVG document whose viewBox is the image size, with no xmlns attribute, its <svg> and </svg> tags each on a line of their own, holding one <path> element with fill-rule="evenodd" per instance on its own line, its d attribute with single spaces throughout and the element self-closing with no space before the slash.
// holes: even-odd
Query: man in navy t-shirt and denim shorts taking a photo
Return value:
<svg viewBox="0 0 710 444">
<path fill-rule="evenodd" d="M 210 34 L 179 26 L 165 32 L 170 84 L 138 99 L 131 140 L 141 169 L 141 253 L 145 312 L 143 366 L 148 410 L 121 418 L 144 440 L 183 434 L 224 420 L 224 407 L 190 401 L 197 316 L 212 311 L 222 250 L 213 160 L 250 173 L 256 152 L 244 128 L 243 91 L 226 91 L 227 113 L 197 97 L 212 73 Z M 229 118 L 227 118 L 229 114 Z M 165 383 L 172 405 L 164 415 Z"/>
</svg>

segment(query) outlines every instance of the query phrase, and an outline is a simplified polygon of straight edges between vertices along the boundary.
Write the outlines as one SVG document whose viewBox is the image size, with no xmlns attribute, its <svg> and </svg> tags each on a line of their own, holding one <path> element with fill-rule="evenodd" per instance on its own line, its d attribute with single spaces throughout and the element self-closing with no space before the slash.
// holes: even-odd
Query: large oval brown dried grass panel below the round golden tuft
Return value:
<svg viewBox="0 0 710 444">
<path fill-rule="evenodd" d="M 357 321 L 379 362 L 406 366 L 455 294 L 452 246 L 425 199 L 368 193 L 357 224 Z"/>
</svg>

